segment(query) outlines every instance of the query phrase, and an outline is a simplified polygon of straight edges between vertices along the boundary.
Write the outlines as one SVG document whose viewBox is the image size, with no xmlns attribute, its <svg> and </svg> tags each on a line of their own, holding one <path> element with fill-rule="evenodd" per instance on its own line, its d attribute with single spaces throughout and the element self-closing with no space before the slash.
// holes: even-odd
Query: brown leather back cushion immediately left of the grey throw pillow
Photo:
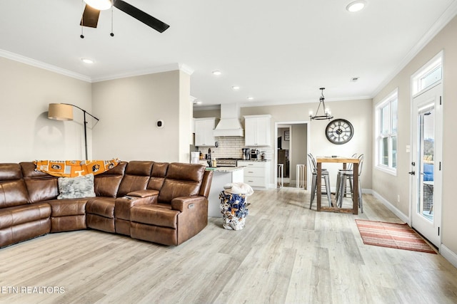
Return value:
<svg viewBox="0 0 457 304">
<path fill-rule="evenodd" d="M 20 165 L 31 203 L 56 199 L 59 195 L 57 177 L 36 171 L 33 162 L 21 162 Z"/>
</svg>

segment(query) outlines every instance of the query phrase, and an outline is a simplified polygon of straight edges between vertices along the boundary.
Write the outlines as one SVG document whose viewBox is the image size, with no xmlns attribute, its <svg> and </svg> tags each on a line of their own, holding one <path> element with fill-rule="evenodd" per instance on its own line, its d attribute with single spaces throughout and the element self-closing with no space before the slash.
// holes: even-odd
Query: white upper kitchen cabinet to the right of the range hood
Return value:
<svg viewBox="0 0 457 304">
<path fill-rule="evenodd" d="M 244 116 L 244 145 L 271 146 L 271 115 Z"/>
</svg>

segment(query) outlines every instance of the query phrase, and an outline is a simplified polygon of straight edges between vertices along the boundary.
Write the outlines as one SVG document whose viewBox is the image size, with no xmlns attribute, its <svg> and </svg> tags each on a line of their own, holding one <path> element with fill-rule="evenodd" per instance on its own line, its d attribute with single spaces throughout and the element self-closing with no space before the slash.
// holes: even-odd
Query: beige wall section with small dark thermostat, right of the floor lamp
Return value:
<svg viewBox="0 0 457 304">
<path fill-rule="evenodd" d="M 94 83 L 93 107 L 100 119 L 94 128 L 94 157 L 189 162 L 190 87 L 182 82 L 190 79 L 189 75 L 181 79 L 181 73 L 174 70 Z M 186 87 L 188 109 L 180 109 L 186 94 L 180 86 Z M 164 120 L 164 128 L 156 127 L 157 120 Z M 180 140 L 181 132 L 187 132 L 184 140 Z"/>
</svg>

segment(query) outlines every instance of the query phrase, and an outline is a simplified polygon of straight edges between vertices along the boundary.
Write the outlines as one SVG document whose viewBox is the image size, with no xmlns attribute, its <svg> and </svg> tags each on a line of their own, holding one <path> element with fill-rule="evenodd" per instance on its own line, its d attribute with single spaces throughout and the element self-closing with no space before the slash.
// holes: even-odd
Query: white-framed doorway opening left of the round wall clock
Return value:
<svg viewBox="0 0 457 304">
<path fill-rule="evenodd" d="M 275 137 L 276 187 L 308 189 L 308 122 L 276 122 Z"/>
</svg>

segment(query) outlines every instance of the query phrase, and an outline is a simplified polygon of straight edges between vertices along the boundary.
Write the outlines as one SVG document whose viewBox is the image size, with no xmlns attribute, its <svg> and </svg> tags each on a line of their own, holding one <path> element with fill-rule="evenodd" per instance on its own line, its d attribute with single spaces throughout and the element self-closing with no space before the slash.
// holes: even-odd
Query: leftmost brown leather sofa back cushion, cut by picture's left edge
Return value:
<svg viewBox="0 0 457 304">
<path fill-rule="evenodd" d="M 29 203 L 19 164 L 0 164 L 0 208 Z"/>
</svg>

